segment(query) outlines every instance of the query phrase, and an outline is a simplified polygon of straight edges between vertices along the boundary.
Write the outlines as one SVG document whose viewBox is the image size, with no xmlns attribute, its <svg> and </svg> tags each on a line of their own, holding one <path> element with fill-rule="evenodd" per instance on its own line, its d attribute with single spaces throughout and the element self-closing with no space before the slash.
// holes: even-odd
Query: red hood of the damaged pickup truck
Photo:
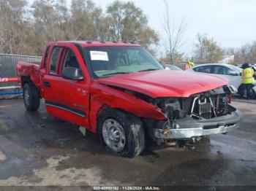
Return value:
<svg viewBox="0 0 256 191">
<path fill-rule="evenodd" d="M 143 93 L 151 98 L 189 97 L 227 85 L 227 79 L 187 71 L 143 71 L 99 79 L 99 83 Z"/>
</svg>

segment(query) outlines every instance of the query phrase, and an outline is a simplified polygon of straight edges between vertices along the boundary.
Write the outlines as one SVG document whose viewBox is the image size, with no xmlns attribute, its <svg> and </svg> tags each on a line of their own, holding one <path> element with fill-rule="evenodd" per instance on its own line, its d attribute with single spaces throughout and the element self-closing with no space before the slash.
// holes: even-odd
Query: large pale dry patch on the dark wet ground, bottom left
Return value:
<svg viewBox="0 0 256 191">
<path fill-rule="evenodd" d="M 34 169 L 31 176 L 11 176 L 8 179 L 0 180 L 0 185 L 26 185 L 26 186 L 48 186 L 48 185 L 117 185 L 120 182 L 108 182 L 102 178 L 102 173 L 96 166 L 91 168 L 65 168 L 64 170 L 56 170 L 60 163 L 69 160 L 69 157 L 55 156 L 47 160 L 48 166 L 44 168 Z"/>
</svg>

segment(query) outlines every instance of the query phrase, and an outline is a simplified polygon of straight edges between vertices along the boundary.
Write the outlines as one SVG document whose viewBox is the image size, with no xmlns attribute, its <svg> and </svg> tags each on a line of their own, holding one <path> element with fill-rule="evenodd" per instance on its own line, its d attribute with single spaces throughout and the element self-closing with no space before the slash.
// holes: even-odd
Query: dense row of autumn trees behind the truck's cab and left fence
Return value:
<svg viewBox="0 0 256 191">
<path fill-rule="evenodd" d="M 149 51 L 159 36 L 132 1 L 113 1 L 106 11 L 94 0 L 0 0 L 0 52 L 40 55 L 45 44 L 62 40 L 140 42 Z"/>
</svg>

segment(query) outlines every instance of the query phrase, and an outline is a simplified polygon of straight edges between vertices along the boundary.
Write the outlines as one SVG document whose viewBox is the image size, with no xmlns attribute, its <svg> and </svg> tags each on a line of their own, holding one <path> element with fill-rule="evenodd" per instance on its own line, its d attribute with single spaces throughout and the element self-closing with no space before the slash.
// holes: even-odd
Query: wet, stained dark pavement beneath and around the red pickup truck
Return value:
<svg viewBox="0 0 256 191">
<path fill-rule="evenodd" d="M 39 112 L 23 100 L 0 101 L 0 185 L 256 186 L 256 103 L 235 101 L 242 127 L 195 150 L 150 145 L 135 158 L 106 151 L 96 135 Z M 256 188 L 256 187 L 255 187 Z M 216 190 L 216 189 L 215 189 Z"/>
</svg>

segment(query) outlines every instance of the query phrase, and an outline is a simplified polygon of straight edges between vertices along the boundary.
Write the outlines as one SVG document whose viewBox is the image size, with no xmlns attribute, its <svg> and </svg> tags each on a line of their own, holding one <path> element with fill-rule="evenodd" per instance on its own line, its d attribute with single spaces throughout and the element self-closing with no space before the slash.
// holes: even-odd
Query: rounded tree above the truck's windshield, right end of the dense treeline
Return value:
<svg viewBox="0 0 256 191">
<path fill-rule="evenodd" d="M 140 42 L 143 47 L 154 52 L 151 50 L 151 45 L 158 44 L 159 36 L 148 26 L 148 18 L 143 10 L 136 7 L 132 1 L 113 1 L 107 8 L 107 18 L 109 20 L 107 39 Z"/>
</svg>

